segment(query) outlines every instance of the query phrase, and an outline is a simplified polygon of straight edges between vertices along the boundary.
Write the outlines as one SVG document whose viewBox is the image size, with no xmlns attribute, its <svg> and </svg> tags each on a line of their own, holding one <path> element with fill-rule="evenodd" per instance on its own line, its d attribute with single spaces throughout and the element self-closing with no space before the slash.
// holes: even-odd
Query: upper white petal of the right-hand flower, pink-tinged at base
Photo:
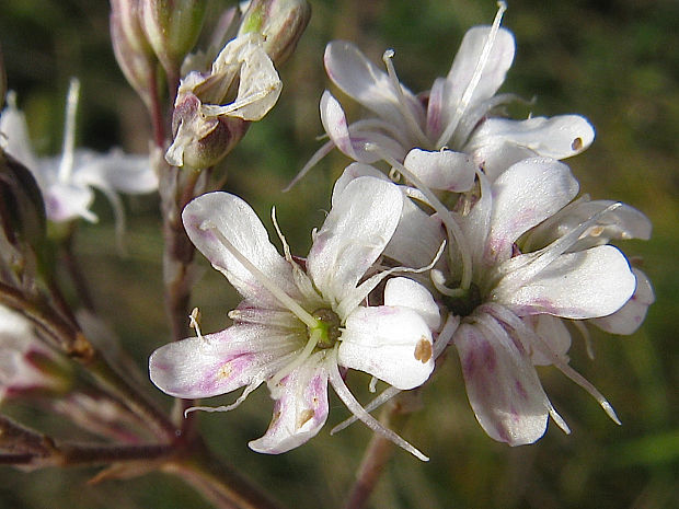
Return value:
<svg viewBox="0 0 679 509">
<path fill-rule="evenodd" d="M 485 259 L 508 259 L 514 242 L 567 205 L 578 188 L 568 166 L 553 159 L 526 159 L 509 167 L 492 187 Z"/>
</svg>

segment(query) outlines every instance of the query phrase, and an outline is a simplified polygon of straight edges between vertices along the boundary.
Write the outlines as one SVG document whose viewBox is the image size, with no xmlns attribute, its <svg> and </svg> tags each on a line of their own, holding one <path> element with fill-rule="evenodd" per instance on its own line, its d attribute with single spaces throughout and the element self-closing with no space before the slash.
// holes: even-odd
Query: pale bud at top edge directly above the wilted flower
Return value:
<svg viewBox="0 0 679 509">
<path fill-rule="evenodd" d="M 306 0 L 252 0 L 239 35 L 255 32 L 264 36 L 264 50 L 280 66 L 295 51 L 310 18 L 311 5 Z"/>
</svg>

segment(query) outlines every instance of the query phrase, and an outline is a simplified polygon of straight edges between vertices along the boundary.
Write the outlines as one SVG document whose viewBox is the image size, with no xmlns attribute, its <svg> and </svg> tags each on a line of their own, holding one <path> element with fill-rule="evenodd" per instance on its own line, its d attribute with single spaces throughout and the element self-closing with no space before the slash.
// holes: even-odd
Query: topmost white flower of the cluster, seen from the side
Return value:
<svg viewBox="0 0 679 509">
<path fill-rule="evenodd" d="M 516 99 L 497 94 L 515 54 L 514 36 L 499 26 L 505 9 L 500 2 L 492 26 L 467 32 L 447 77 L 437 78 L 431 90 L 419 95 L 400 83 L 393 50 L 384 53 L 384 72 L 354 44 L 331 42 L 324 57 L 327 76 L 372 116 L 349 124 L 340 102 L 326 91 L 320 108 L 330 141 L 294 182 L 334 147 L 364 163 L 384 155 L 403 162 L 414 148 L 450 149 L 468 154 L 473 166 L 484 169 L 491 178 L 529 157 L 564 159 L 589 147 L 595 132 L 579 115 L 526 120 L 491 116 L 493 108 Z"/>
</svg>

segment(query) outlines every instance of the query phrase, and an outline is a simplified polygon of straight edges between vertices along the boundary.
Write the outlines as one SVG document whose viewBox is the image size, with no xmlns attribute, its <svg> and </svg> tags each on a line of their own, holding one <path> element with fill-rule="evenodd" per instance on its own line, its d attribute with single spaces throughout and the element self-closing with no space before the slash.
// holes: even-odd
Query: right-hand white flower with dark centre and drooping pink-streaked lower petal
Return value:
<svg viewBox="0 0 679 509">
<path fill-rule="evenodd" d="M 407 173 L 403 166 L 398 170 Z M 624 255 L 606 242 L 584 240 L 620 206 L 607 203 L 582 217 L 566 213 L 560 222 L 577 217 L 574 223 L 554 227 L 550 218 L 575 198 L 578 184 L 565 164 L 552 159 L 526 159 L 494 182 L 483 174 L 480 182 L 480 196 L 462 195 L 457 204 L 461 213 L 445 210 L 426 187 L 418 189 L 453 245 L 446 265 L 437 266 L 431 278 L 439 299 L 462 319 L 451 343 L 479 423 L 492 438 L 511 446 L 538 440 L 549 415 L 567 430 L 533 368 L 546 363 L 590 392 L 617 420 L 603 396 L 568 366 L 571 338 L 559 319 L 611 315 L 635 291 L 636 278 Z M 422 223 L 419 218 L 400 228 L 415 234 Z M 549 241 L 533 251 L 519 242 L 529 231 Z M 424 254 L 413 256 L 407 245 L 387 251 L 395 253 L 396 261 L 402 252 L 416 263 L 424 259 Z"/>
</svg>

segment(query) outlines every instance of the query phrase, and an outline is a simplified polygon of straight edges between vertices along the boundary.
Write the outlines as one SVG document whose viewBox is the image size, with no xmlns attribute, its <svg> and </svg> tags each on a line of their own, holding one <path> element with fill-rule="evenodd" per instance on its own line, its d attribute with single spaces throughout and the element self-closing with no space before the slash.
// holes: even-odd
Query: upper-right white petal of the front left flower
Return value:
<svg viewBox="0 0 679 509">
<path fill-rule="evenodd" d="M 403 195 L 390 182 L 362 176 L 334 198 L 314 235 L 307 269 L 325 300 L 338 303 L 356 288 L 391 239 Z"/>
</svg>

